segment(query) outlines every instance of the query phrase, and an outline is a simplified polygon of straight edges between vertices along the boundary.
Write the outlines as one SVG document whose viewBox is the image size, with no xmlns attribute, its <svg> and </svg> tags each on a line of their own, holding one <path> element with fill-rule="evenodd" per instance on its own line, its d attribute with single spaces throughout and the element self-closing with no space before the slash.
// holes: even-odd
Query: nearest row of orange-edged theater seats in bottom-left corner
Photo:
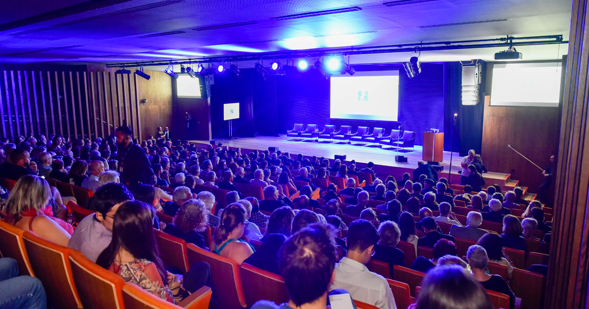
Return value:
<svg viewBox="0 0 589 309">
<path fill-rule="evenodd" d="M 203 287 L 174 305 L 88 260 L 80 251 L 54 244 L 0 220 L 0 252 L 14 258 L 20 275 L 41 280 L 49 304 L 64 309 L 206 309 L 211 288 Z"/>
</svg>

